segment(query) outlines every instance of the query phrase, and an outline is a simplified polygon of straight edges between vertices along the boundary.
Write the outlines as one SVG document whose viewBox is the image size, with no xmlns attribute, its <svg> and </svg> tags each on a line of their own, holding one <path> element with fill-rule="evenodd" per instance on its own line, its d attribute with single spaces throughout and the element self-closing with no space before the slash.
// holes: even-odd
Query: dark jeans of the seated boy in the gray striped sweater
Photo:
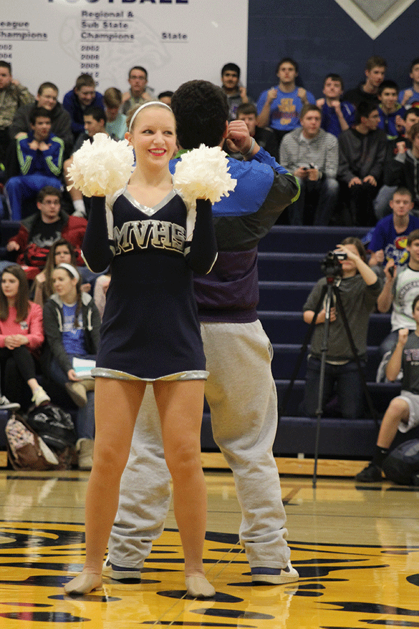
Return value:
<svg viewBox="0 0 419 629">
<path fill-rule="evenodd" d="M 297 201 L 288 207 L 288 215 L 291 225 L 325 225 L 330 223 L 332 214 L 336 208 L 337 197 L 339 195 L 339 184 L 332 177 L 323 177 L 317 181 L 299 179 L 300 196 Z M 307 196 L 307 198 L 306 198 Z M 304 220 L 304 210 L 309 204 L 307 201 L 311 197 L 314 202 L 314 215 Z"/>
</svg>

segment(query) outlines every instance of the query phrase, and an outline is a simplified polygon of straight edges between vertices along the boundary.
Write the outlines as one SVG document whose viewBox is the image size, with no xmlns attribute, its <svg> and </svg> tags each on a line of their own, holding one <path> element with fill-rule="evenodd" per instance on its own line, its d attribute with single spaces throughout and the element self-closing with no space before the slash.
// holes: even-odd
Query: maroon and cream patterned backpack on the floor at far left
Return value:
<svg viewBox="0 0 419 629">
<path fill-rule="evenodd" d="M 52 470 L 59 460 L 23 417 L 13 414 L 5 428 L 7 452 L 14 470 Z"/>
</svg>

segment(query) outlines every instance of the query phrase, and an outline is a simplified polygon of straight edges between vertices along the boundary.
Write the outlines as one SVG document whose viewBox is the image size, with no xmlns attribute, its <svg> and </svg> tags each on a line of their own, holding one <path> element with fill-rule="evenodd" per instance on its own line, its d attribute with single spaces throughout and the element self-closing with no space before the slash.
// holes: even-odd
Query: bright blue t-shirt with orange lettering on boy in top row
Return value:
<svg viewBox="0 0 419 629">
<path fill-rule="evenodd" d="M 298 88 L 295 87 L 293 92 L 281 92 L 279 87 L 275 89 L 277 89 L 277 98 L 270 104 L 269 126 L 278 131 L 293 131 L 297 126 L 300 126 L 300 112 L 303 108 L 302 100 L 297 96 Z M 259 96 L 256 105 L 258 114 L 263 110 L 267 92 L 268 90 L 265 89 L 265 92 Z M 307 92 L 306 98 L 312 105 L 316 104 L 316 99 L 311 92 Z"/>
</svg>

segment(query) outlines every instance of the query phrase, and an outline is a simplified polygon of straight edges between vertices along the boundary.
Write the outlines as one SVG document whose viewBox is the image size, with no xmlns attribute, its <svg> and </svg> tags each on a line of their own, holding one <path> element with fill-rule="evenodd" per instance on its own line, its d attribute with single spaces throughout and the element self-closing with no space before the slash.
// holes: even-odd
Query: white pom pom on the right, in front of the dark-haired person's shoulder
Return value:
<svg viewBox="0 0 419 629">
<path fill-rule="evenodd" d="M 219 146 L 209 148 L 204 144 L 182 155 L 173 179 L 175 188 L 191 207 L 197 198 L 216 203 L 236 185 L 228 174 L 227 154 Z"/>
</svg>

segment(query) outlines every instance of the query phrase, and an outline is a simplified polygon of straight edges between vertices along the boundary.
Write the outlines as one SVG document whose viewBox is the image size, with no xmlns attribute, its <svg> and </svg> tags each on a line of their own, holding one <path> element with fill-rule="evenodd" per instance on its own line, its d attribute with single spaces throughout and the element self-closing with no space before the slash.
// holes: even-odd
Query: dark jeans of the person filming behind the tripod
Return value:
<svg viewBox="0 0 419 629">
<path fill-rule="evenodd" d="M 319 359 L 312 357 L 309 358 L 307 363 L 303 405 L 304 411 L 309 417 L 316 415 L 318 407 L 320 364 L 321 361 Z M 363 367 L 365 361 L 362 361 L 361 364 Z M 355 361 L 349 361 L 344 365 L 330 365 L 330 363 L 326 363 L 322 410 L 332 397 L 335 384 L 342 417 L 345 419 L 362 417 L 364 410 L 362 380 Z"/>
</svg>

